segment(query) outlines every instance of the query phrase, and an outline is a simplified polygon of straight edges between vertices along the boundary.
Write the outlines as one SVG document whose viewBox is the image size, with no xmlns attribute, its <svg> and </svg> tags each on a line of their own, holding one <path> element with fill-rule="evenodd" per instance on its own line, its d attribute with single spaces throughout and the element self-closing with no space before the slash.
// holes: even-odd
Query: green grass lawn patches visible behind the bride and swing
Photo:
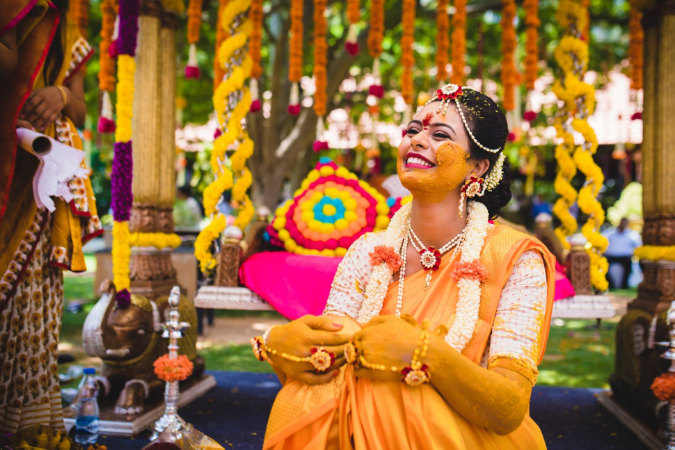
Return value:
<svg viewBox="0 0 675 450">
<path fill-rule="evenodd" d="M 67 277 L 64 281 L 65 300 L 94 298 L 93 277 Z M 63 313 L 61 342 L 81 348 L 82 326 L 93 301 L 83 312 Z M 274 317 L 276 312 L 216 311 L 216 316 L 228 317 Z M 596 328 L 596 321 L 569 320 L 564 326 L 552 326 L 546 348 L 546 356 L 539 365 L 538 385 L 564 387 L 609 387 L 607 378 L 614 369 L 614 332 L 616 322 L 603 321 Z M 77 362 L 84 361 L 84 352 L 72 352 Z M 211 370 L 271 372 L 269 364 L 260 364 L 251 346 L 219 345 L 203 348 L 200 355 Z M 59 367 L 63 372 L 67 365 Z"/>
</svg>

